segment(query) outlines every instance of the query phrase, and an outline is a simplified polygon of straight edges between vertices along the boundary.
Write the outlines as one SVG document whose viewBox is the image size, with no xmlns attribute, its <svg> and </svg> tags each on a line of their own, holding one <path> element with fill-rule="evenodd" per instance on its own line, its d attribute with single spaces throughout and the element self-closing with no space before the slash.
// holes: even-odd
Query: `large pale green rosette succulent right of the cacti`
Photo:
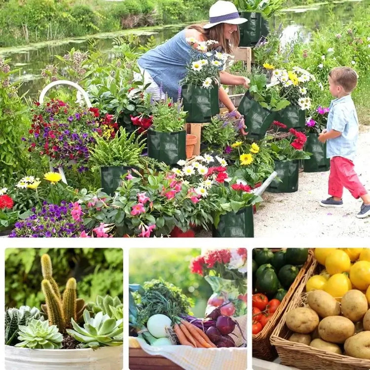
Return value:
<svg viewBox="0 0 370 370">
<path fill-rule="evenodd" d="M 91 318 L 87 309 L 83 311 L 83 319 L 85 321 L 83 328 L 79 327 L 74 319 L 71 319 L 74 330 L 67 329 L 68 334 L 81 342 L 80 348 L 122 345 L 122 319 L 115 320 L 104 315 L 102 311 Z"/>
</svg>

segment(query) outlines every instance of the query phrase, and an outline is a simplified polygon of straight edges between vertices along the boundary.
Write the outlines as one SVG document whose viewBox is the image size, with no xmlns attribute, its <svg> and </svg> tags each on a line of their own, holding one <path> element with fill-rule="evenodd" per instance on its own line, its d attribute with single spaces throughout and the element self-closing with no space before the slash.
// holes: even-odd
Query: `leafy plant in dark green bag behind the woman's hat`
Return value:
<svg viewBox="0 0 370 370">
<path fill-rule="evenodd" d="M 242 18 L 247 22 L 239 25 L 239 47 L 255 46 L 261 37 L 268 35 L 267 19 L 280 10 L 283 0 L 233 0 Z"/>
</svg>

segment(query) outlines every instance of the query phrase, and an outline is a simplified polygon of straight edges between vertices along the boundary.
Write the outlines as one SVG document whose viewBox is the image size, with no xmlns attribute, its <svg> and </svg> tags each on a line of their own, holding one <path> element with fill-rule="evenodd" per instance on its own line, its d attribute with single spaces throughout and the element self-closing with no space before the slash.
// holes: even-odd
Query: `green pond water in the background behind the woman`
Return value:
<svg viewBox="0 0 370 370">
<path fill-rule="evenodd" d="M 329 19 L 329 13 L 332 12 L 340 19 L 350 19 L 356 6 L 361 0 L 342 1 L 328 3 L 316 3 L 309 6 L 299 6 L 284 11 L 271 20 L 270 28 L 283 25 L 282 42 L 288 42 L 292 38 L 301 34 L 303 39 L 309 39 L 313 30 L 319 29 Z M 124 31 L 123 33 L 142 34 L 140 39 L 145 42 L 149 35 L 153 35 L 157 42 L 164 41 L 181 29 L 185 25 L 173 25 L 165 27 L 145 28 L 141 30 Z M 21 92 L 29 91 L 29 95 L 37 98 L 37 94 L 44 86 L 44 80 L 41 78 L 41 70 L 47 64 L 57 63 L 55 55 L 64 55 L 73 47 L 81 51 L 89 48 L 89 42 L 93 39 L 96 45 L 104 51 L 109 51 L 114 37 L 119 33 L 94 36 L 90 38 L 80 38 L 66 41 L 46 42 L 43 45 L 30 45 L 24 48 L 6 49 L 0 48 L 0 55 L 5 58 L 11 58 L 11 67 L 20 69 L 20 78 L 23 81 Z"/>
</svg>

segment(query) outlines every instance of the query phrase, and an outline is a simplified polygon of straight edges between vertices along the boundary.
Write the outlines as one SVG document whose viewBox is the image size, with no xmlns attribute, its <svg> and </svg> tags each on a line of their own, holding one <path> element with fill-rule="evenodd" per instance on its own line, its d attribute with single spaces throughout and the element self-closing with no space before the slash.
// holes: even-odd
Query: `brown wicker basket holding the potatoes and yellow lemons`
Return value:
<svg viewBox="0 0 370 370">
<path fill-rule="evenodd" d="M 338 355 L 288 340 L 293 332 L 285 325 L 287 313 L 296 307 L 304 306 L 302 293 L 304 292 L 305 283 L 309 277 L 319 273 L 320 270 L 321 265 L 314 260 L 307 276 L 305 276 L 299 289 L 297 289 L 294 299 L 273 331 L 271 344 L 276 347 L 283 365 L 293 366 L 301 370 L 369 370 L 370 360 Z"/>
</svg>

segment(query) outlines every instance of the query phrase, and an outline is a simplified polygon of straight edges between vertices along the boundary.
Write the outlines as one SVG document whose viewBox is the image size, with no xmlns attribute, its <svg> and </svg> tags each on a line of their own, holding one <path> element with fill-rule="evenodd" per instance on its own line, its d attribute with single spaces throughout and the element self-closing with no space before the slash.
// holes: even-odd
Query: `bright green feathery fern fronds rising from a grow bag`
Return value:
<svg viewBox="0 0 370 370">
<path fill-rule="evenodd" d="M 120 127 L 113 139 L 95 135 L 96 144 L 90 148 L 90 162 L 94 168 L 103 166 L 140 167 L 140 156 L 145 148 L 142 135 L 129 134 Z"/>
</svg>

